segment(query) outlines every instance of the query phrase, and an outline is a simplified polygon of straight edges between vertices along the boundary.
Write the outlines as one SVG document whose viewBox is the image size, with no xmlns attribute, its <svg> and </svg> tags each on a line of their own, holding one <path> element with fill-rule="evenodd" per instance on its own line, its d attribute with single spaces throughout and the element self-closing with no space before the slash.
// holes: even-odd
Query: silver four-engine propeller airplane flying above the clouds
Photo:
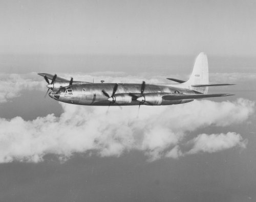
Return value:
<svg viewBox="0 0 256 202">
<path fill-rule="evenodd" d="M 90 83 L 66 80 L 49 73 L 38 73 L 48 83 L 49 96 L 59 102 L 90 106 L 130 106 L 130 105 L 177 105 L 207 97 L 222 97 L 233 94 L 207 94 L 211 86 L 234 84 L 209 84 L 208 59 L 200 53 L 193 72 L 187 81 L 167 78 L 177 84 L 130 84 L 130 83 Z M 51 80 L 51 83 L 49 82 Z M 47 91 L 47 93 L 48 93 Z"/>
</svg>

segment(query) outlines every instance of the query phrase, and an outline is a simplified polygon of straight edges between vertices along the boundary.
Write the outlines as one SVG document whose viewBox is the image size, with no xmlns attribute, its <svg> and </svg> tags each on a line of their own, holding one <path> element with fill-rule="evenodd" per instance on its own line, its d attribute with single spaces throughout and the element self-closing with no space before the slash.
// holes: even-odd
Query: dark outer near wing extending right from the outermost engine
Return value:
<svg viewBox="0 0 256 202">
<path fill-rule="evenodd" d="M 179 99 L 201 99 L 206 97 L 223 97 L 223 96 L 230 96 L 233 94 L 176 94 L 173 95 L 164 95 L 162 99 L 165 100 L 179 100 Z"/>
</svg>

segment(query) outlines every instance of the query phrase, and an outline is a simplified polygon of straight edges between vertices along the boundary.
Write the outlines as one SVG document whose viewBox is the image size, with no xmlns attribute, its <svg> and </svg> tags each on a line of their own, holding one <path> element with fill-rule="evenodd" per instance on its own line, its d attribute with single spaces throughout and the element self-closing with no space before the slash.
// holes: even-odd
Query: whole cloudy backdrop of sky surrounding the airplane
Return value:
<svg viewBox="0 0 256 202">
<path fill-rule="evenodd" d="M 1 1 L 0 201 L 254 201 L 254 1 Z M 176 106 L 58 103 L 38 72 L 76 81 L 187 80 Z"/>
</svg>

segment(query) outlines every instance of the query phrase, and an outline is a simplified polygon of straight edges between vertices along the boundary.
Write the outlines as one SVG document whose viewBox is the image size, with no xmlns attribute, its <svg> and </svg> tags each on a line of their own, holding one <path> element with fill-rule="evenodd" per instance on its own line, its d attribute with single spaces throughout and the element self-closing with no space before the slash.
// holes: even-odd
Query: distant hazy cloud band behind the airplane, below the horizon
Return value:
<svg viewBox="0 0 256 202">
<path fill-rule="evenodd" d="M 54 73 L 53 73 L 54 74 Z M 138 73 L 136 75 L 127 74 L 125 72 L 90 72 L 90 73 L 58 73 L 59 77 L 70 79 L 74 78 L 74 81 L 88 81 L 100 83 L 104 80 L 106 83 L 142 83 L 145 81 L 148 84 L 156 83 L 175 83 L 166 80 L 166 75 L 154 75 L 148 72 Z M 184 75 L 170 75 L 170 78 L 183 78 Z M 188 78 L 189 76 L 187 76 Z M 253 73 L 212 73 L 210 74 L 212 83 L 237 83 L 240 81 L 254 81 L 256 74 Z M 47 83 L 44 78 L 37 75 L 36 72 L 15 74 L 15 73 L 0 73 L 0 104 L 8 102 L 15 97 L 22 94 L 23 90 L 32 91 L 39 90 L 45 92 L 47 90 Z"/>
</svg>

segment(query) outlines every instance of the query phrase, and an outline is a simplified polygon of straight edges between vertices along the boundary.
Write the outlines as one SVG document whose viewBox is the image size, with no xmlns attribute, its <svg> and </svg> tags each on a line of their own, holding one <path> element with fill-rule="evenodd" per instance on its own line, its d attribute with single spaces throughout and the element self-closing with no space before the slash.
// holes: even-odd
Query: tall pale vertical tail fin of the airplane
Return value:
<svg viewBox="0 0 256 202">
<path fill-rule="evenodd" d="M 196 90 L 201 93 L 208 92 L 208 86 L 193 87 L 209 84 L 208 59 L 205 53 L 200 53 L 196 59 L 192 74 L 184 85 L 191 90 Z"/>
</svg>

